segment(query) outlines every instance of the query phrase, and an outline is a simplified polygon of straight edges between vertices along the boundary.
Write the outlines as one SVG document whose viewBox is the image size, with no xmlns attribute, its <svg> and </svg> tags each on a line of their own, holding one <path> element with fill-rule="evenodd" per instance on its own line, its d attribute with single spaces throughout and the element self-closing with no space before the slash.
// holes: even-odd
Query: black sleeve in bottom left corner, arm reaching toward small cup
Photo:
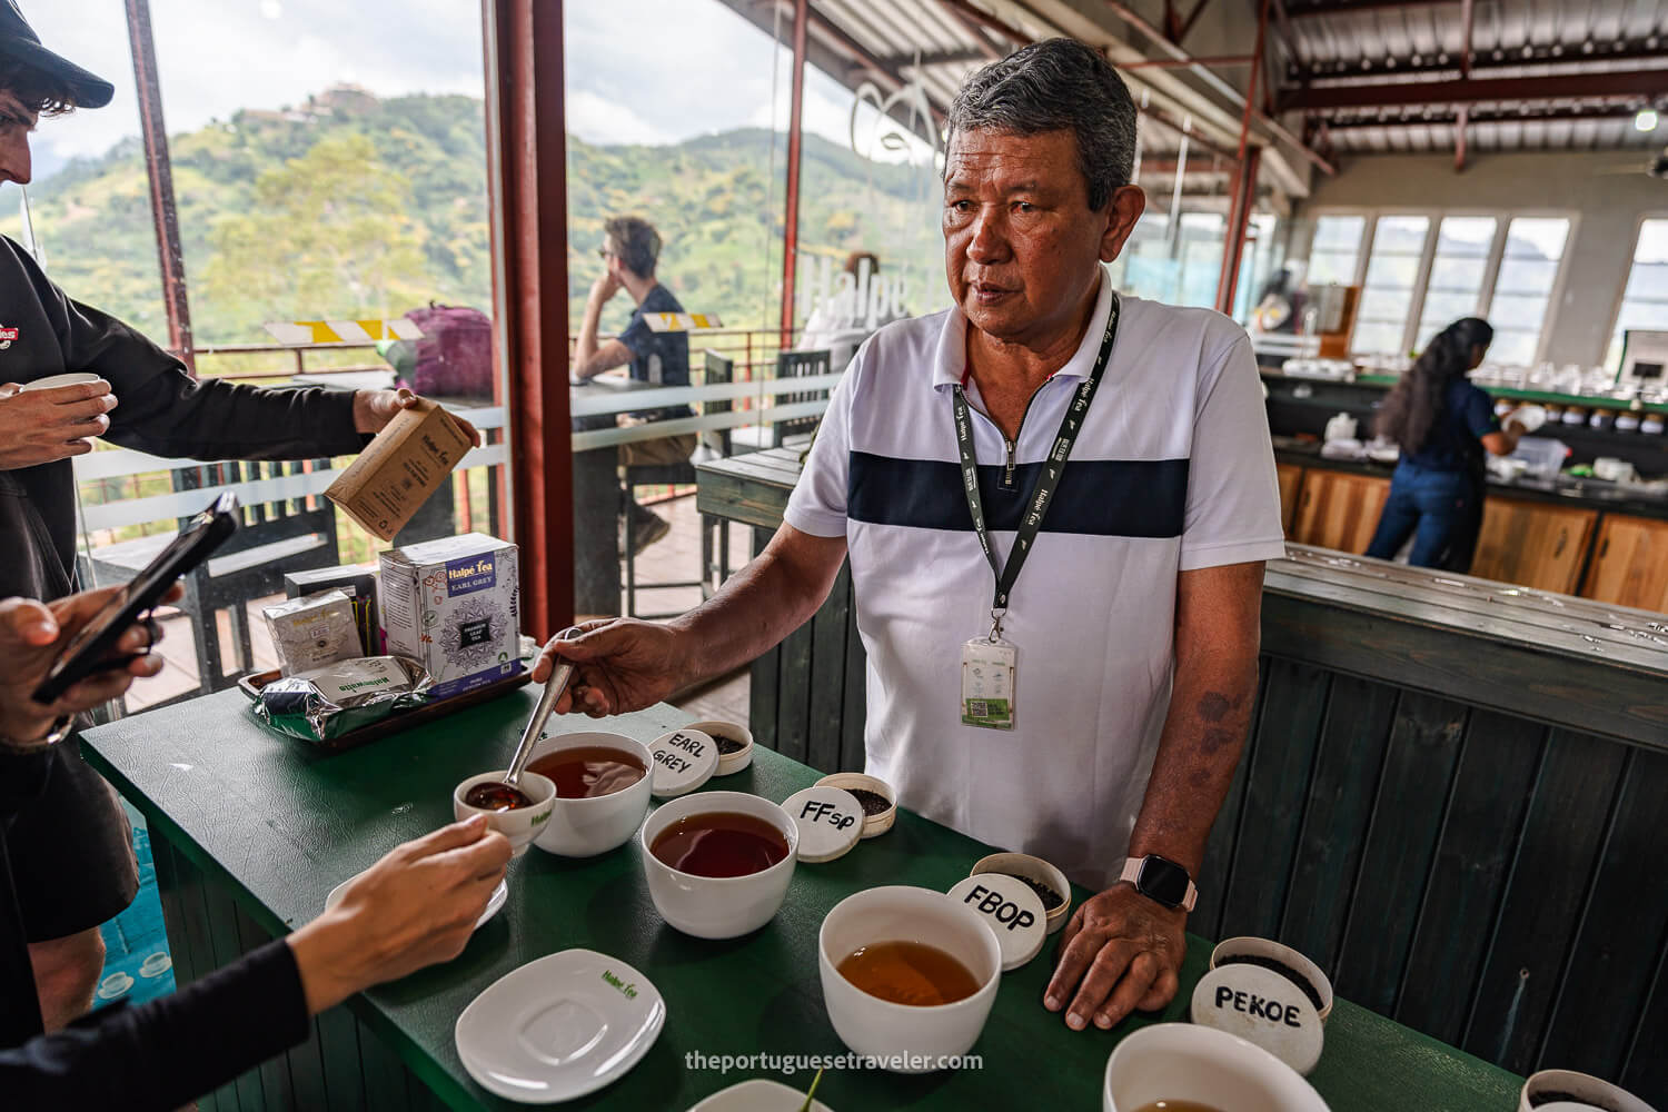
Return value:
<svg viewBox="0 0 1668 1112">
<path fill-rule="evenodd" d="M 173 995 L 0 1050 L 12 1109 L 178 1109 L 307 1037 L 282 939 Z"/>
</svg>

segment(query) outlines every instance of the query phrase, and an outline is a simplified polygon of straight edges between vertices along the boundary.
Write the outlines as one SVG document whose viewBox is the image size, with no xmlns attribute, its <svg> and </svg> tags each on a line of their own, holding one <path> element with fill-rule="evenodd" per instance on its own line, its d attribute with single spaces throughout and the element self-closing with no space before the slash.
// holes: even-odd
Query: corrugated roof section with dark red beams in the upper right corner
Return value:
<svg viewBox="0 0 1668 1112">
<path fill-rule="evenodd" d="M 1271 0 L 1283 83 L 1323 150 L 1618 150 L 1668 110 L 1668 0 Z M 1668 112 L 1665 112 L 1668 115 Z"/>
</svg>

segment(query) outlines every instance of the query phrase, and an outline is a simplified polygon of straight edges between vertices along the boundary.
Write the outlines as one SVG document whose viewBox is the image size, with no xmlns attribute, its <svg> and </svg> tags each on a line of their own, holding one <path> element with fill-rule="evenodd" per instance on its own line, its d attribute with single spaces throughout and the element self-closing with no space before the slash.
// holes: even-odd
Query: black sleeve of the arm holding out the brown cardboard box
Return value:
<svg viewBox="0 0 1668 1112">
<path fill-rule="evenodd" d="M 68 370 L 102 375 L 117 407 L 105 438 L 152 455 L 200 460 L 287 460 L 354 455 L 354 395 L 344 390 L 264 390 L 195 380 L 137 328 L 63 293 L 25 252 L 18 260 L 52 322 Z"/>
</svg>

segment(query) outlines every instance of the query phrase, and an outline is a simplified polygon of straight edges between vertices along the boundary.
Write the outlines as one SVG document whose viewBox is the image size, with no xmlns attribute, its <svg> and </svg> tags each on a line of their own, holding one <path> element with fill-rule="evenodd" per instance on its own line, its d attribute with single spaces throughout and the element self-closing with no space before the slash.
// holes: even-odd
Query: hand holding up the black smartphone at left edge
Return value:
<svg viewBox="0 0 1668 1112">
<path fill-rule="evenodd" d="M 82 627 L 120 592 L 122 587 L 105 587 L 50 604 L 32 599 L 0 600 L 0 660 L 7 662 L 0 675 L 0 737 L 13 744 L 40 740 L 52 732 L 58 719 L 117 699 L 133 685 L 135 679 L 152 677 L 162 670 L 162 657 L 148 655 L 162 640 L 162 630 L 153 624 L 133 625 L 117 640 L 115 654 L 147 655 L 130 660 L 123 669 L 87 677 L 50 705 L 30 697 Z M 180 594 L 182 587 L 175 584 L 163 602 L 173 602 Z"/>
</svg>

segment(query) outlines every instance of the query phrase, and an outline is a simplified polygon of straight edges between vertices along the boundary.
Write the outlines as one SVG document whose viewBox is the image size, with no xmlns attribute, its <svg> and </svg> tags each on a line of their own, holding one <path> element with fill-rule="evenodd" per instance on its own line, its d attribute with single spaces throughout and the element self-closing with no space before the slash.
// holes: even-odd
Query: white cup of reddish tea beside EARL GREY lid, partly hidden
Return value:
<svg viewBox="0 0 1668 1112">
<path fill-rule="evenodd" d="M 555 784 L 550 820 L 534 845 L 559 857 L 595 857 L 631 842 L 649 814 L 649 747 L 624 734 L 559 734 L 532 747 L 527 772 Z"/>
</svg>

